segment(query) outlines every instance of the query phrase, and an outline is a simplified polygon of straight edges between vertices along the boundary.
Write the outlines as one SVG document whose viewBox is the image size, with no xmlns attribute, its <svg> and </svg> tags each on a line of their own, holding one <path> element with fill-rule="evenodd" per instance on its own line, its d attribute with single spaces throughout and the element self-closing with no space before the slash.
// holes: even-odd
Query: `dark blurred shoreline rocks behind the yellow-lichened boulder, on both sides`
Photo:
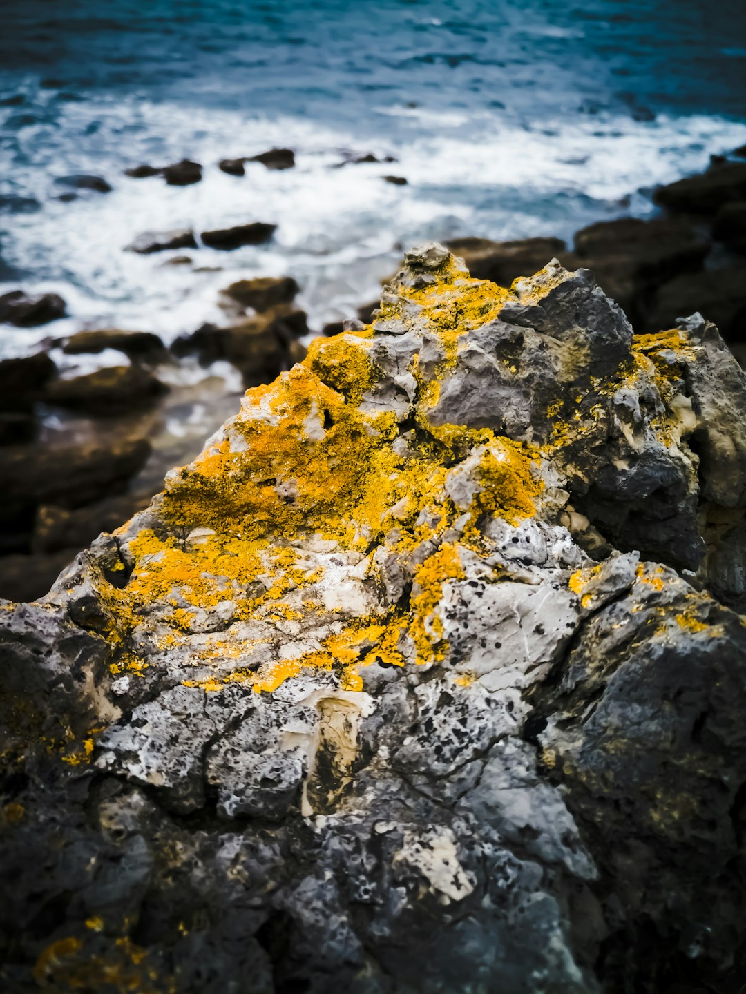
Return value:
<svg viewBox="0 0 746 994">
<path fill-rule="evenodd" d="M 730 157 L 714 159 L 704 174 L 658 189 L 654 200 L 663 209 L 661 216 L 601 222 L 579 231 L 573 248 L 552 238 L 508 243 L 461 239 L 449 247 L 466 259 L 473 275 L 501 286 L 510 286 L 515 278 L 539 269 L 552 257 L 568 268 L 586 266 L 622 306 L 636 331 L 670 327 L 678 316 L 698 310 L 717 324 L 743 361 L 744 154 L 744 149 L 737 149 Z M 340 164 L 371 159 L 375 157 L 350 156 Z M 294 160 L 291 150 L 272 149 L 249 159 L 226 160 L 220 168 L 240 177 L 248 161 L 272 170 L 292 168 Z M 386 161 L 392 161 L 391 157 Z M 199 182 L 202 167 L 183 160 L 162 168 L 137 167 L 128 174 L 184 185 Z M 70 196 L 91 191 L 97 196 L 110 189 L 101 177 L 72 176 L 66 182 L 74 191 Z M 204 232 L 201 239 L 206 245 L 231 250 L 272 236 L 272 225 L 251 222 Z M 195 233 L 185 229 L 143 233 L 130 248 L 153 253 L 196 245 Z M 188 261 L 180 255 L 170 255 L 168 261 L 182 259 Z M 224 291 L 227 323 L 200 327 L 170 348 L 152 333 L 87 330 L 63 340 L 50 335 L 37 354 L 0 362 L 0 468 L 13 482 L 0 519 L 0 594 L 22 599 L 42 595 L 66 558 L 72 560 L 95 535 L 110 529 L 117 515 L 123 520 L 147 503 L 174 454 L 173 446 L 157 432 L 165 430 L 169 411 L 189 416 L 200 403 L 195 388 L 178 386 L 176 371 L 181 365 L 199 364 L 208 376 L 211 364 L 228 363 L 244 386 L 251 387 L 271 382 L 302 359 L 302 343 L 309 336 L 305 315 L 293 306 L 297 289 L 291 277 L 234 282 Z M 377 302 L 362 305 L 358 318 L 369 321 L 376 306 Z M 53 332 L 54 320 L 65 309 L 65 301 L 57 294 L 28 297 L 11 290 L 0 296 L 0 321 L 19 326 L 49 323 Z M 319 329 L 326 335 L 342 330 L 341 322 Z M 121 364 L 79 376 L 61 376 L 50 356 L 52 352 L 63 361 L 72 356 L 90 360 L 103 350 L 118 353 Z M 174 379 L 176 385 L 169 387 Z M 188 409 L 180 404 L 185 394 L 192 405 Z M 216 404 L 214 379 L 206 397 L 211 405 Z M 213 426 L 226 411 L 218 405 Z M 46 430 L 44 424 L 50 417 L 62 419 L 63 430 Z M 114 440 L 109 444 L 112 431 Z M 198 447 L 198 435 L 193 445 L 192 450 L 184 450 L 186 459 Z M 137 453 L 136 458 L 131 453 Z M 150 487 L 141 473 L 138 476 L 146 463 L 155 481 Z M 68 467 L 68 480 L 60 479 L 60 467 Z M 56 523 L 51 535 L 50 522 Z"/>
</svg>

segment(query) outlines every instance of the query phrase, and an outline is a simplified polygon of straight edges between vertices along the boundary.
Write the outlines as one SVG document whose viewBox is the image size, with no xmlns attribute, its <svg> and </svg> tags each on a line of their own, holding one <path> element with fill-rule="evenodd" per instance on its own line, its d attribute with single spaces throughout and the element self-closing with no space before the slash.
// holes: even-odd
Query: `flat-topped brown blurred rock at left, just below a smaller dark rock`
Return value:
<svg viewBox="0 0 746 994">
<path fill-rule="evenodd" d="M 168 387 L 139 366 L 105 366 L 69 380 L 55 380 L 45 400 L 54 407 L 113 417 L 150 407 L 167 391 Z"/>
</svg>

